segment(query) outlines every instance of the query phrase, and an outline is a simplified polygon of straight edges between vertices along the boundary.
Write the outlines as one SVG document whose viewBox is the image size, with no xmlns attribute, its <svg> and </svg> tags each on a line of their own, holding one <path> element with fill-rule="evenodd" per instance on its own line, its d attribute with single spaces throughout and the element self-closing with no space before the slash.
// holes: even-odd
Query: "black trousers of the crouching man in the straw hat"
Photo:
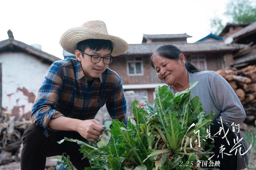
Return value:
<svg viewBox="0 0 256 170">
<path fill-rule="evenodd" d="M 77 143 L 69 141 L 64 141 L 61 144 L 57 143 L 64 137 L 86 142 L 86 139 L 79 133 L 74 131 L 51 131 L 48 135 L 48 137 L 44 135 L 42 127 L 33 123 L 28 125 L 22 136 L 21 170 L 44 170 L 46 157 L 62 155 L 62 153 L 70 156 L 70 161 L 78 170 L 90 167 L 88 159 L 82 159 L 83 154 L 80 153 L 80 147 Z"/>
</svg>

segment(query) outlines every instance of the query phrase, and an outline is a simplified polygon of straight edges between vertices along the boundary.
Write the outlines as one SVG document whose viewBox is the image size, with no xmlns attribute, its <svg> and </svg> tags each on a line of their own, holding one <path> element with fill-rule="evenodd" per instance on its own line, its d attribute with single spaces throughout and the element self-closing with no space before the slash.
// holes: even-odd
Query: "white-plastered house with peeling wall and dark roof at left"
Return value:
<svg viewBox="0 0 256 170">
<path fill-rule="evenodd" d="M 48 68 L 58 57 L 14 39 L 0 41 L 2 111 L 30 120 L 31 108 Z"/>
</svg>

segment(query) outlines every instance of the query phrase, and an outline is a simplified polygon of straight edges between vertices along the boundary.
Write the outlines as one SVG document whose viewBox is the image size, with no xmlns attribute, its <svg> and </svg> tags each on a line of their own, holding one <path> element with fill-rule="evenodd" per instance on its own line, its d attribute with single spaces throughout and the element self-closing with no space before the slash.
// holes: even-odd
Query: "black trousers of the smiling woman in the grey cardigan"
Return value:
<svg viewBox="0 0 256 170">
<path fill-rule="evenodd" d="M 220 128 L 222 128 L 222 124 L 216 120 L 212 121 L 212 123 L 214 123 L 214 125 L 210 126 L 210 134 L 211 136 L 215 135 L 216 133 L 216 137 L 214 137 L 214 148 L 212 150 L 212 152 L 214 152 L 214 154 L 210 154 L 210 157 L 212 157 L 212 159 L 214 160 L 214 164 L 216 161 L 220 162 L 220 166 L 216 166 L 216 168 L 219 168 L 220 170 L 236 170 L 237 167 L 237 158 L 238 158 L 238 153 L 236 153 L 235 155 L 235 150 L 232 151 L 231 153 L 229 152 L 232 147 L 234 146 L 234 139 L 236 139 L 236 135 L 234 134 L 234 132 L 232 132 L 230 129 L 228 130 L 228 127 L 223 124 L 224 127 L 224 131 L 225 133 L 228 131 L 226 137 L 229 141 L 226 141 L 226 138 L 224 137 L 224 131 L 222 130 L 220 135 L 218 133 L 218 131 L 220 131 Z M 222 137 L 224 137 L 222 139 Z M 212 139 L 208 138 L 208 143 L 212 142 Z M 222 149 L 221 149 L 222 148 Z M 208 147 L 205 148 L 205 150 L 207 150 Z M 223 150 L 224 149 L 224 150 Z M 232 155 L 227 155 L 227 154 L 232 154 Z M 222 158 L 222 154 L 223 154 L 223 158 Z M 209 164 L 208 164 L 209 165 Z M 202 167 L 204 168 L 204 167 Z M 212 168 L 212 167 L 210 167 Z"/>
</svg>

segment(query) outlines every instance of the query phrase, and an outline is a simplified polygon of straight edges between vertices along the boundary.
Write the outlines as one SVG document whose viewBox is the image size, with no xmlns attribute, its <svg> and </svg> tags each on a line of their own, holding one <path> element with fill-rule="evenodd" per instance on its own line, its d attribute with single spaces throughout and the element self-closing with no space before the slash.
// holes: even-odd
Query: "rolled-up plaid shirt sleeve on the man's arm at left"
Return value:
<svg viewBox="0 0 256 170">
<path fill-rule="evenodd" d="M 31 121 L 44 129 L 48 128 L 51 119 L 62 116 L 55 110 L 56 103 L 62 92 L 61 64 L 53 63 L 48 69 L 44 81 L 38 90 L 32 107 Z"/>
</svg>

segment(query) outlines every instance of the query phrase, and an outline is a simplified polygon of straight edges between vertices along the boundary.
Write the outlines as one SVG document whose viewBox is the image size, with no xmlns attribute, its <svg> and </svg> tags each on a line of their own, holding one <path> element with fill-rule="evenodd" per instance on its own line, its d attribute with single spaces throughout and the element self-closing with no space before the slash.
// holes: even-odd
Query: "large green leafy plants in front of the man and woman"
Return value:
<svg viewBox="0 0 256 170">
<path fill-rule="evenodd" d="M 211 125 L 214 113 L 205 116 L 198 96 L 189 100 L 190 90 L 196 84 L 191 83 L 190 88 L 175 96 L 168 86 L 158 86 L 154 106 L 147 102 L 149 111 L 137 108 L 138 101 L 134 101 L 132 112 L 136 123 L 129 119 L 125 126 L 123 122 L 113 120 L 106 146 L 98 148 L 95 143 L 68 138 L 59 143 L 66 140 L 80 145 L 80 152 L 92 166 L 85 170 L 199 168 L 196 162 L 209 159 L 209 155 L 200 150 L 207 144 L 206 129 Z M 110 122 L 104 125 L 109 128 Z"/>
</svg>

